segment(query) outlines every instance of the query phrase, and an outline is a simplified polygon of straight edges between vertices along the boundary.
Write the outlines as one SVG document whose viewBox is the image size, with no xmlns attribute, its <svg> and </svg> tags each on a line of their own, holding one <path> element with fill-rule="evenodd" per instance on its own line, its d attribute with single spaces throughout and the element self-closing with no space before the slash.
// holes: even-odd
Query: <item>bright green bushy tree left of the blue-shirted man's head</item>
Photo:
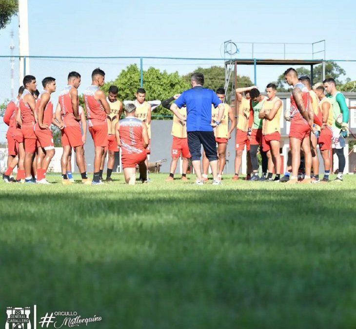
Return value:
<svg viewBox="0 0 356 329">
<path fill-rule="evenodd" d="M 133 100 L 140 86 L 140 71 L 136 64 L 129 65 L 122 70 L 114 81 L 105 83 L 102 87 L 105 93 L 108 93 L 109 87 L 115 85 L 119 88 L 119 99 Z M 180 77 L 178 72 L 167 73 L 150 67 L 143 71 L 143 87 L 146 90 L 147 100 L 159 99 L 164 100 L 179 94 L 190 88 L 190 85 Z M 172 112 L 159 106 L 155 110 L 155 115 L 172 115 Z"/>
</svg>

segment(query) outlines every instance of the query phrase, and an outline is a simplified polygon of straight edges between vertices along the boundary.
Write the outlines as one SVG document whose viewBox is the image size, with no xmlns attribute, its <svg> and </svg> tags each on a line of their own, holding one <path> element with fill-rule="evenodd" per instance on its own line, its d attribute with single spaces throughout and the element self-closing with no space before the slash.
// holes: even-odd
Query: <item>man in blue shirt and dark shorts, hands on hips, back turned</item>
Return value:
<svg viewBox="0 0 356 329">
<path fill-rule="evenodd" d="M 201 185 L 201 145 L 210 161 L 213 172 L 213 184 L 218 185 L 218 156 L 213 127 L 220 124 L 224 114 L 224 104 L 221 103 L 217 94 L 204 88 L 204 76 L 201 73 L 194 73 L 191 77 L 192 89 L 184 91 L 180 97 L 171 105 L 171 111 L 184 121 L 179 114 L 178 108 L 187 107 L 187 135 L 189 151 L 192 155 L 192 163 L 197 175 L 197 184 Z M 212 124 L 211 106 L 219 108 L 218 120 Z"/>
</svg>

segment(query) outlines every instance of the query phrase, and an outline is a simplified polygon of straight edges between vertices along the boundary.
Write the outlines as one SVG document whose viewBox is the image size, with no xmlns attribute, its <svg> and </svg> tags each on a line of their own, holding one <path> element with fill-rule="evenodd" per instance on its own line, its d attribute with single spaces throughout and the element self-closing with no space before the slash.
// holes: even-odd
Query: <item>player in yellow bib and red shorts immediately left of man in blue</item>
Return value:
<svg viewBox="0 0 356 329">
<path fill-rule="evenodd" d="M 178 99 L 180 94 L 176 94 L 171 98 L 168 98 L 162 101 L 162 106 L 166 109 L 170 109 L 170 103 Z M 180 115 L 186 119 L 187 117 L 187 108 L 183 106 L 181 109 L 178 109 Z M 188 159 L 191 158 L 189 147 L 188 147 L 188 138 L 187 138 L 187 125 L 186 121 L 181 121 L 178 119 L 178 116 L 173 115 L 173 124 L 172 124 L 172 133 L 173 143 L 172 143 L 172 161 L 169 169 L 169 177 L 166 181 L 174 180 L 174 173 L 176 172 L 177 163 L 180 155 L 183 157 L 182 163 L 182 177 L 181 180 L 188 180 L 187 178 L 187 169 L 188 169 Z"/>
</svg>

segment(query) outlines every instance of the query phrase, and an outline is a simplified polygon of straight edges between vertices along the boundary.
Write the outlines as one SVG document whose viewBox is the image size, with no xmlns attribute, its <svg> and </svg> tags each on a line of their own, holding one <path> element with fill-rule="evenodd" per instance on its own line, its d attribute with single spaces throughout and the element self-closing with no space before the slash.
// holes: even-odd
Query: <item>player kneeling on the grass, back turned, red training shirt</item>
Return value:
<svg viewBox="0 0 356 329">
<path fill-rule="evenodd" d="M 147 182 L 146 148 L 149 143 L 147 126 L 135 116 L 136 105 L 125 105 L 125 118 L 115 125 L 115 136 L 121 147 L 121 163 L 125 182 L 136 183 L 136 166 L 138 165 L 142 183 Z"/>
</svg>

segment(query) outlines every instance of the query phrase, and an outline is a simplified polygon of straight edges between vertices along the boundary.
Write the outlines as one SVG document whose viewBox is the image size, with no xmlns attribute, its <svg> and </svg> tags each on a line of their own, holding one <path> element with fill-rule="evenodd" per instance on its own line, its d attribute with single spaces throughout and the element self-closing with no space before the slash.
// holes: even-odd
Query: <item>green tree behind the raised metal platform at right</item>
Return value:
<svg viewBox="0 0 356 329">
<path fill-rule="evenodd" d="M 323 65 L 318 64 L 314 67 L 313 70 L 313 83 L 322 82 L 322 70 Z M 298 76 L 308 76 L 310 77 L 310 70 L 305 67 L 298 67 L 296 69 L 298 72 Z M 344 76 L 346 74 L 345 70 L 340 67 L 336 62 L 326 62 L 325 63 L 325 78 L 332 77 L 335 79 L 337 85 L 341 85 L 343 82 L 340 80 L 340 76 Z M 348 79 L 346 79 L 348 81 Z M 288 86 L 284 81 L 283 73 L 277 79 L 277 88 L 278 91 L 288 91 L 290 86 Z"/>
</svg>

